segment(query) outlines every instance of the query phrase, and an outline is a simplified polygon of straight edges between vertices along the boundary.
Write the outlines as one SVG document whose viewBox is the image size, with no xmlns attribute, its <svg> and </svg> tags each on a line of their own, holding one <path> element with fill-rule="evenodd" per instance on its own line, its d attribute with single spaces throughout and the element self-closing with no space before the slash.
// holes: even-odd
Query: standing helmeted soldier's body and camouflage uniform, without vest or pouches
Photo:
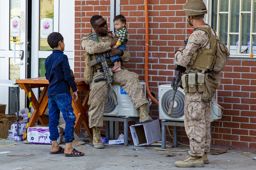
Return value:
<svg viewBox="0 0 256 170">
<path fill-rule="evenodd" d="M 194 13 L 193 10 L 195 10 Z M 204 24 L 202 20 L 204 14 L 207 14 L 206 6 L 202 1 L 189 1 L 184 7 L 184 11 L 188 16 L 188 23 L 191 26 L 197 24 L 197 27 L 204 26 L 210 28 L 210 26 Z M 199 14 L 198 11 L 200 11 Z M 189 16 L 191 16 L 192 18 Z M 198 21 L 196 20 L 201 20 L 201 25 L 198 25 Z M 192 25 L 191 21 L 194 21 L 193 23 L 197 23 Z M 197 27 L 194 26 L 194 28 Z M 205 31 L 194 31 L 188 39 L 186 48 L 184 50 L 183 48 L 180 48 L 179 50 L 175 51 L 175 64 L 187 67 L 193 54 L 199 48 L 205 46 L 208 40 L 208 34 Z M 210 44 L 206 46 L 206 48 L 208 49 L 209 47 Z M 210 151 L 211 109 L 210 103 L 205 103 L 202 101 L 202 94 L 203 93 L 199 93 L 198 91 L 196 91 L 195 93 L 185 93 L 184 125 L 186 133 L 190 140 L 191 150 L 189 151 L 190 156 L 187 156 L 186 159 L 182 161 L 175 162 L 175 165 L 178 167 L 203 167 L 204 163 L 209 163 L 205 152 Z"/>
</svg>

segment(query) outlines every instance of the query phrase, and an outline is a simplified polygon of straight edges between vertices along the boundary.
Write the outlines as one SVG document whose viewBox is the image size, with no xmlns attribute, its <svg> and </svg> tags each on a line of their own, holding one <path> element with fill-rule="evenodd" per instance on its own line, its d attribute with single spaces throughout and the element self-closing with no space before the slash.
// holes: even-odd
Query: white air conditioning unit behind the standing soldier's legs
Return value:
<svg viewBox="0 0 256 170">
<path fill-rule="evenodd" d="M 185 93 L 182 88 L 178 88 L 175 98 L 172 115 L 168 115 L 170 101 L 172 100 L 174 89 L 171 84 L 164 84 L 158 87 L 159 95 L 159 119 L 184 121 Z M 211 121 L 221 119 L 222 108 L 217 102 L 217 90 L 211 101 Z"/>
</svg>

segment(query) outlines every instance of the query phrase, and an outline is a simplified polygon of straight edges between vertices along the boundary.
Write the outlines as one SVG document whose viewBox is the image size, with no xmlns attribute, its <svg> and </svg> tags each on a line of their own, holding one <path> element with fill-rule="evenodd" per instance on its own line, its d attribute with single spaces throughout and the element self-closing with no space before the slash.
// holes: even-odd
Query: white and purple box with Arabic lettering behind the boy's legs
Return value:
<svg viewBox="0 0 256 170">
<path fill-rule="evenodd" d="M 58 143 L 62 143 L 63 140 L 63 130 L 61 127 L 58 127 L 59 138 L 57 139 Z M 51 144 L 50 130 L 48 125 L 38 125 L 28 128 L 27 134 L 28 143 L 37 143 L 37 144 Z"/>
</svg>

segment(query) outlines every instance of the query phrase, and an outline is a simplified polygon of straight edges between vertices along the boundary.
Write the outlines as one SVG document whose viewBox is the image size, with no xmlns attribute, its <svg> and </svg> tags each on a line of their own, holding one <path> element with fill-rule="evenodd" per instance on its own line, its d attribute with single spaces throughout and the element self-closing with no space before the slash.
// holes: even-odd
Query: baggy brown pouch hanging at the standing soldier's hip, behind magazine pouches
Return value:
<svg viewBox="0 0 256 170">
<path fill-rule="evenodd" d="M 205 74 L 205 90 L 202 95 L 202 101 L 206 103 L 211 102 L 216 89 L 218 89 L 218 83 L 215 76 L 210 73 Z"/>
</svg>

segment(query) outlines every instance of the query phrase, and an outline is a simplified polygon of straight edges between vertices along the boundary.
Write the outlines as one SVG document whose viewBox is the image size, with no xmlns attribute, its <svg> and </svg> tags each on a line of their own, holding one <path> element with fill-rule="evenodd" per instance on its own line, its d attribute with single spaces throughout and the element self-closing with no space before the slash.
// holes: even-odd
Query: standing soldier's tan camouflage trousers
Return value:
<svg viewBox="0 0 256 170">
<path fill-rule="evenodd" d="M 190 140 L 189 154 L 203 156 L 210 151 L 210 103 L 202 101 L 202 93 L 186 93 L 184 111 L 185 130 Z"/>
</svg>

